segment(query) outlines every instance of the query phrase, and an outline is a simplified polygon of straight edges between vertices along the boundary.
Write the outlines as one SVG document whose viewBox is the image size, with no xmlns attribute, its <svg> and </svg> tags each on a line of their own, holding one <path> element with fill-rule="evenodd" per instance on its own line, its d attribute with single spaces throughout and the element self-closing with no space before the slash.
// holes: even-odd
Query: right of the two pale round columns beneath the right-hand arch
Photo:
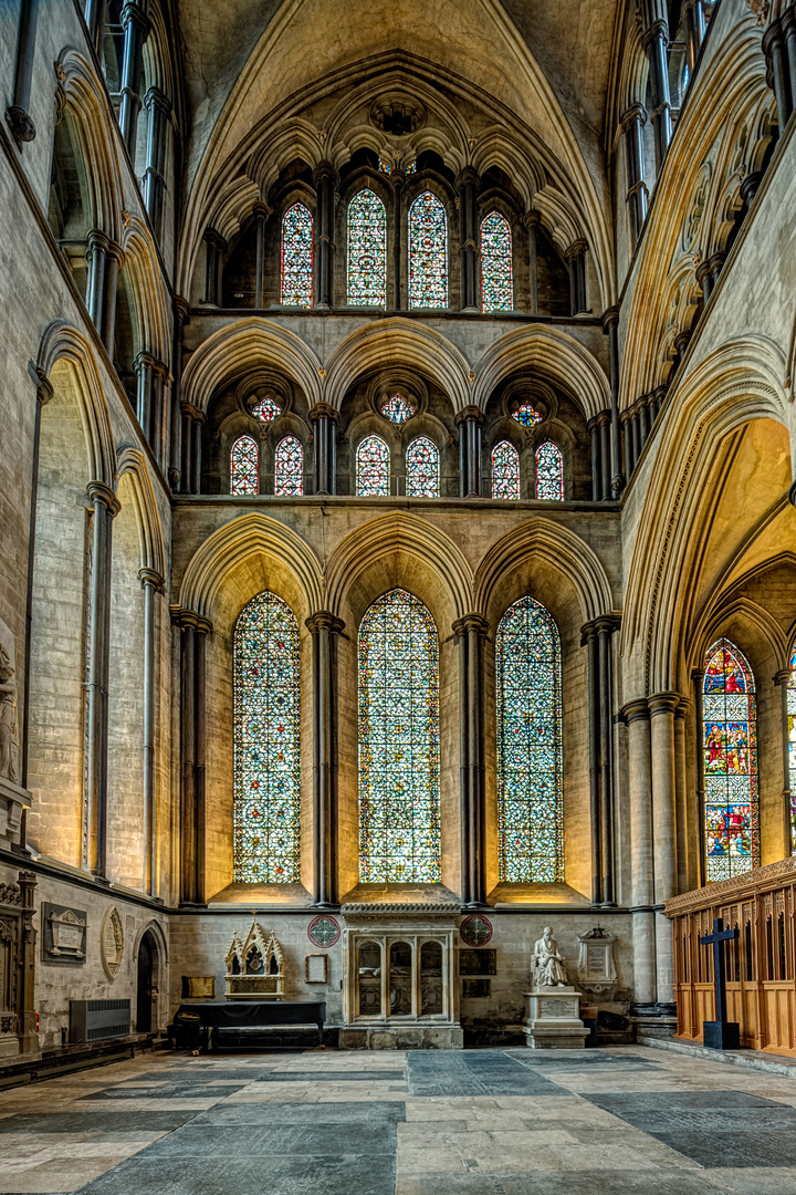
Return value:
<svg viewBox="0 0 796 1195">
<path fill-rule="evenodd" d="M 677 891 L 677 784 L 674 767 L 674 711 L 679 693 L 656 693 L 649 698 L 653 841 L 655 871 L 655 972 L 658 1011 L 672 1016 L 674 1004 L 674 960 L 672 927 L 662 912 L 664 901 Z"/>
</svg>

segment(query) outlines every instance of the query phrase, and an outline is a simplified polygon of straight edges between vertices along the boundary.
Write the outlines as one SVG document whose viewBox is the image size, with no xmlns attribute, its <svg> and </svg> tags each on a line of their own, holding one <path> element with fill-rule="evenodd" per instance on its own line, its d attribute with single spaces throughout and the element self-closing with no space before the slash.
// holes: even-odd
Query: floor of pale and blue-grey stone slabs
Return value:
<svg viewBox="0 0 796 1195">
<path fill-rule="evenodd" d="M 643 1047 L 159 1054 L 0 1092 L 0 1193 L 796 1195 L 796 1080 Z"/>
</svg>

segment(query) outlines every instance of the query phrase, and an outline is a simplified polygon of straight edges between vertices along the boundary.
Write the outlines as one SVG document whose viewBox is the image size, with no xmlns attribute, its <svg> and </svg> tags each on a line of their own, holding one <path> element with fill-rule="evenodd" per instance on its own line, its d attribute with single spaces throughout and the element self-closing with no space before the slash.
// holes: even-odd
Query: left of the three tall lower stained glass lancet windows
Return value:
<svg viewBox="0 0 796 1195">
<path fill-rule="evenodd" d="M 298 624 L 266 590 L 235 624 L 236 881 L 298 880 Z"/>
</svg>

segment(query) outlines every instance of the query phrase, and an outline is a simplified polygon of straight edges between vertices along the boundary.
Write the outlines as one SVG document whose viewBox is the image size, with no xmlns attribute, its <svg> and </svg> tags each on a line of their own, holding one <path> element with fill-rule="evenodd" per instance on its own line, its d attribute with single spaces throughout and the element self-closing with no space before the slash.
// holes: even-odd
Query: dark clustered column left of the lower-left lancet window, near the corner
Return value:
<svg viewBox="0 0 796 1195">
<path fill-rule="evenodd" d="M 204 903 L 206 618 L 177 609 L 180 629 L 180 903 Z"/>
</svg>

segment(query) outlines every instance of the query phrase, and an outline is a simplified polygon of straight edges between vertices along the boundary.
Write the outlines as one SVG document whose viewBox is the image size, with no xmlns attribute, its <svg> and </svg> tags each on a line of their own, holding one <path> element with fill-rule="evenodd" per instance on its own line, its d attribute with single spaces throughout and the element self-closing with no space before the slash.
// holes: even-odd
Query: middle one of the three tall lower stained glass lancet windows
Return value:
<svg viewBox="0 0 796 1195">
<path fill-rule="evenodd" d="M 405 589 L 359 627 L 359 878 L 439 881 L 439 641 Z"/>
</svg>

